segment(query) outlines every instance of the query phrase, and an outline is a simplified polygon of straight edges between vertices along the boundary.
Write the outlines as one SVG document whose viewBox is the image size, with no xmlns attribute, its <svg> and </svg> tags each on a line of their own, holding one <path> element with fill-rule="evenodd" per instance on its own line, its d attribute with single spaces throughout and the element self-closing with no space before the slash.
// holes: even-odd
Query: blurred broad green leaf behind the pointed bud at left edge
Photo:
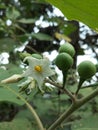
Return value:
<svg viewBox="0 0 98 130">
<path fill-rule="evenodd" d="M 8 78 L 10 76 L 13 75 L 13 73 L 21 73 L 22 69 L 20 69 L 19 67 L 15 67 L 14 65 L 10 65 L 11 69 L 9 70 L 3 70 L 0 69 L 0 81 Z M 5 85 L 4 85 L 5 86 Z M 7 86 L 7 85 L 6 85 Z M 7 102 L 12 102 L 12 103 L 16 103 L 18 105 L 23 105 L 24 102 L 21 101 L 14 93 L 12 93 L 7 87 L 3 87 L 2 85 L 0 85 L 0 102 L 1 101 L 7 101 Z M 12 90 L 14 90 L 15 92 L 18 93 L 18 87 L 17 84 L 9 84 L 9 88 L 11 88 Z"/>
</svg>

